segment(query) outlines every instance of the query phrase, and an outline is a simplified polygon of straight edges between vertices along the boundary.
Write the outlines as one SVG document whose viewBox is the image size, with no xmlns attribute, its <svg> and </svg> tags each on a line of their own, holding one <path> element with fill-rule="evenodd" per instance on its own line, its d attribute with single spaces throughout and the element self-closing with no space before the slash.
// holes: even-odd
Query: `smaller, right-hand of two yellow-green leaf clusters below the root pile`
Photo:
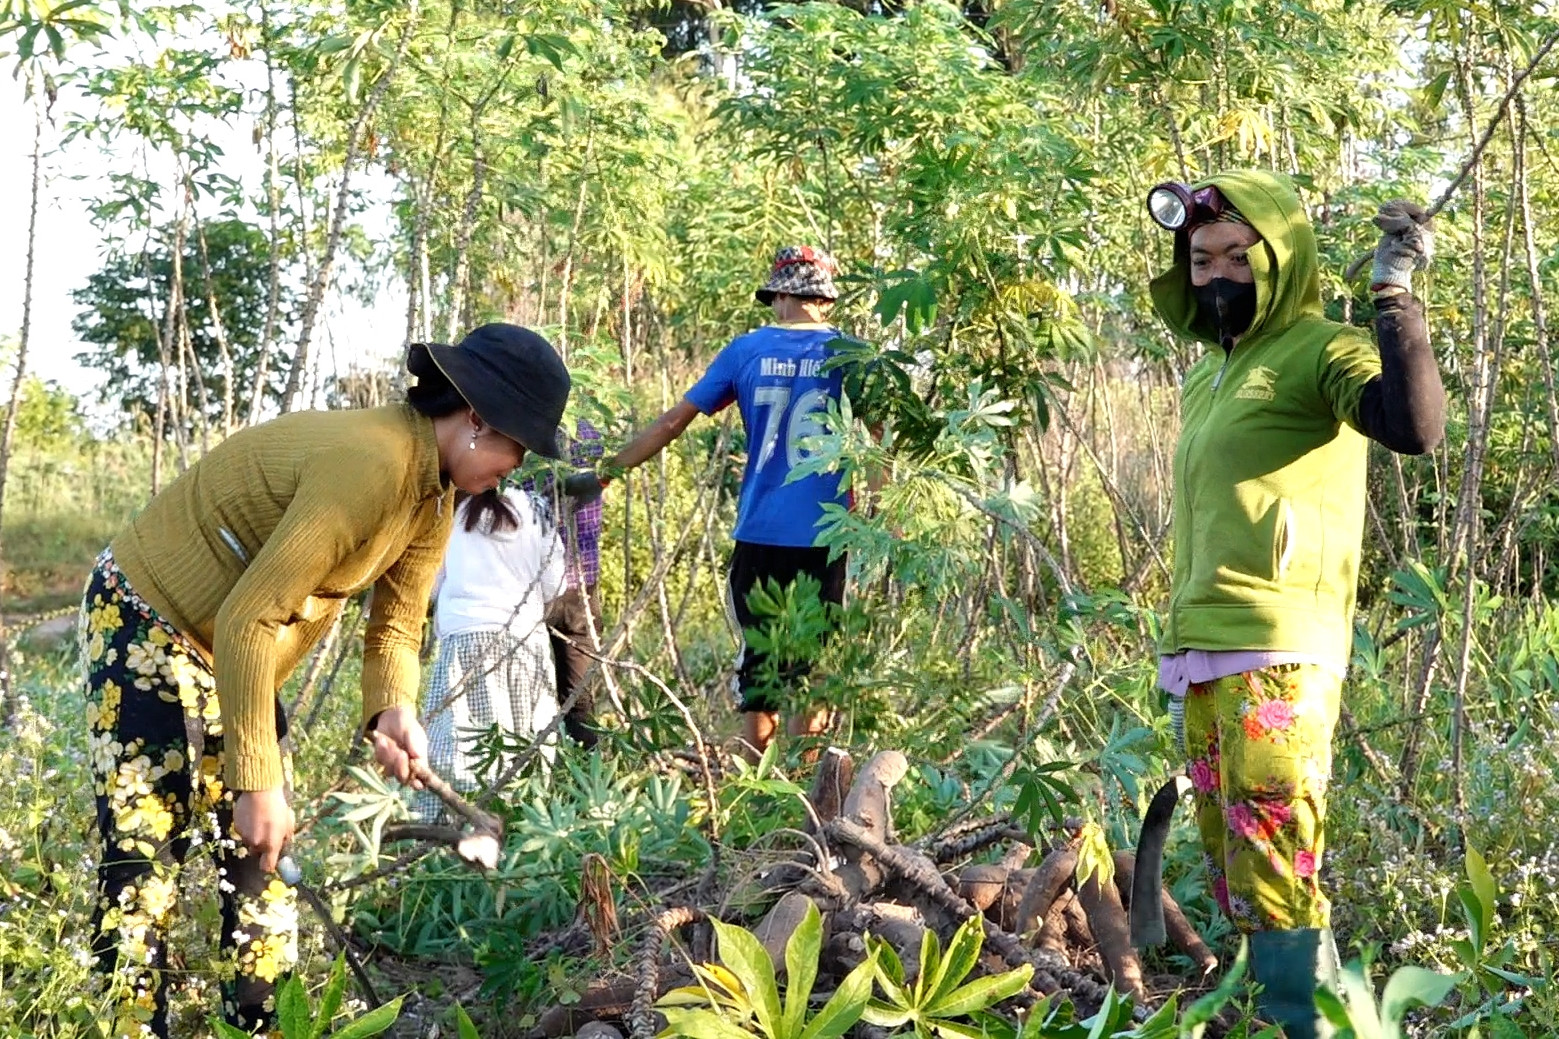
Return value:
<svg viewBox="0 0 1559 1039">
<path fill-rule="evenodd" d="M 914 980 L 906 981 L 904 964 L 893 947 L 882 939 L 870 939 L 876 953 L 873 978 L 882 998 L 871 1000 L 862 1017 L 882 1028 L 907 1025 L 917 1039 L 974 1039 L 987 1034 L 982 1020 L 988 1011 L 1027 988 L 1034 967 L 965 981 L 979 963 L 984 941 L 984 920 L 977 914 L 959 927 L 946 952 L 928 928 L 920 942 L 918 970 Z"/>
</svg>

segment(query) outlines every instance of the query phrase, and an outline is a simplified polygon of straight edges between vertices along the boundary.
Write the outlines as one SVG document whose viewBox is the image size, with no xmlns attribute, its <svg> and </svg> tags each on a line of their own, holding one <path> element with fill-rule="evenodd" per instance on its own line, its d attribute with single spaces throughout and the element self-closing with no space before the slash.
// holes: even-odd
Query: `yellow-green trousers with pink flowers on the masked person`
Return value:
<svg viewBox="0 0 1559 1039">
<path fill-rule="evenodd" d="M 1330 927 L 1319 877 L 1341 693 L 1341 679 L 1314 665 L 1186 691 L 1196 824 L 1218 905 L 1244 933 Z"/>
</svg>

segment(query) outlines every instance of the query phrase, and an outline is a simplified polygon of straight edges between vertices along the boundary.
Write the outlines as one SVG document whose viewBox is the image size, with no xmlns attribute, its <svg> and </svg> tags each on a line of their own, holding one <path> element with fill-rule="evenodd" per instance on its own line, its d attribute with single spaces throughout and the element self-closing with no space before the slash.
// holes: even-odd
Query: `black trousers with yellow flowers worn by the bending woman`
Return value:
<svg viewBox="0 0 1559 1039">
<path fill-rule="evenodd" d="M 167 931 L 179 866 L 201 844 L 217 860 L 221 891 L 223 1017 L 268 1028 L 276 978 L 298 958 L 296 900 L 232 833 L 212 672 L 109 552 L 87 580 L 81 641 L 103 838 L 92 941 L 112 992 L 112 1034 L 168 1034 Z"/>
</svg>

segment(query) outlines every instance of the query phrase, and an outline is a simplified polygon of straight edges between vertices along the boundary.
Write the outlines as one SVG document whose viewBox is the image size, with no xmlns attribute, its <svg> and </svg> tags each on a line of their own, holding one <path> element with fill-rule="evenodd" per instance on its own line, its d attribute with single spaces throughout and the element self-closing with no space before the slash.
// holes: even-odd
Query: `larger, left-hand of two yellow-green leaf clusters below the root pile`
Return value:
<svg viewBox="0 0 1559 1039">
<path fill-rule="evenodd" d="M 751 931 L 723 920 L 711 924 L 720 963 L 694 964 L 698 984 L 672 989 L 656 1002 L 666 1014 L 661 1036 L 837 1039 L 861 1020 L 871 995 L 873 956 L 854 967 L 817 1012 L 809 1012 L 817 958 L 823 950 L 823 919 L 815 905 L 808 905 L 800 927 L 786 942 L 783 992 L 769 950 Z"/>
</svg>

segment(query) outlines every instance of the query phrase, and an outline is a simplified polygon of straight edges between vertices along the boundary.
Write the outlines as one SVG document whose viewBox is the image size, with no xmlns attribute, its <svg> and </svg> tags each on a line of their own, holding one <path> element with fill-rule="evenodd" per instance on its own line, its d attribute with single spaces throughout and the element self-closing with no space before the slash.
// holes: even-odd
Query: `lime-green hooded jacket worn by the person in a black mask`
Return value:
<svg viewBox="0 0 1559 1039">
<path fill-rule="evenodd" d="M 1224 351 L 1191 292 L 1188 236 L 1152 282 L 1169 326 L 1213 348 L 1185 376 L 1174 457 L 1174 579 L 1161 649 L 1277 651 L 1339 671 L 1352 643 L 1364 527 L 1358 399 L 1370 337 L 1320 309 L 1316 236 L 1286 178 L 1214 184 L 1261 236 L 1257 307 Z"/>
</svg>

